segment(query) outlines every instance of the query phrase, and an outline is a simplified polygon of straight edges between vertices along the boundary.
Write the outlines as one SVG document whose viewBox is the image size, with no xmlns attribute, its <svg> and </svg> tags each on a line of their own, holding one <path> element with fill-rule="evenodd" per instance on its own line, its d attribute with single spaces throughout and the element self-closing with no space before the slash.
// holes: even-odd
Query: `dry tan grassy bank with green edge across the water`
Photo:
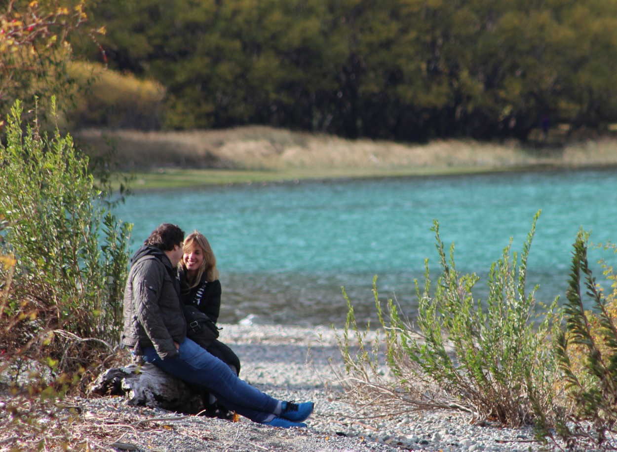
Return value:
<svg viewBox="0 0 617 452">
<path fill-rule="evenodd" d="M 135 174 L 136 189 L 617 165 L 615 137 L 574 141 L 558 130 L 546 141 L 525 146 L 473 140 L 345 140 L 261 126 L 183 132 L 86 130 L 73 135 L 89 153 L 113 148 L 123 171 Z"/>
</svg>

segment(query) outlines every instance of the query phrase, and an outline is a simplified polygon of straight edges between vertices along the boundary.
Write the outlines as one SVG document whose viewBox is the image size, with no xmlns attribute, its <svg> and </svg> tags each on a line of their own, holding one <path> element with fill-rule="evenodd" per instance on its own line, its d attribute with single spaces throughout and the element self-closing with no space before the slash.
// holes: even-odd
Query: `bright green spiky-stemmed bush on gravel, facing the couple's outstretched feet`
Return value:
<svg viewBox="0 0 617 452">
<path fill-rule="evenodd" d="M 536 221 L 524 243 L 520 264 L 511 257 L 511 241 L 489 271 L 486 302 L 474 299 L 472 290 L 479 278 L 460 275 L 453 249 L 446 257 L 434 222 L 442 275 L 431 291 L 428 260 L 426 281 L 420 289 L 417 327 L 399 313 L 400 306 L 388 301 L 387 314 L 375 290 L 379 320 L 384 330 L 368 350 L 367 331 L 360 332 L 350 305 L 344 334 L 339 339 L 347 375 L 342 379 L 348 395 L 407 410 L 457 408 L 471 414 L 473 421 L 498 421 L 521 426 L 532 421 L 534 406 L 550 411 L 555 395 L 557 368 L 549 337 L 560 320 L 557 299 L 547 307 L 544 318 L 536 318 L 534 292 L 526 292 L 526 265 Z M 517 266 L 518 265 L 518 266 Z M 348 301 L 349 303 L 349 301 Z M 350 330 L 355 330 L 360 349 L 352 352 Z M 379 368 L 383 353 L 389 376 Z"/>
</svg>

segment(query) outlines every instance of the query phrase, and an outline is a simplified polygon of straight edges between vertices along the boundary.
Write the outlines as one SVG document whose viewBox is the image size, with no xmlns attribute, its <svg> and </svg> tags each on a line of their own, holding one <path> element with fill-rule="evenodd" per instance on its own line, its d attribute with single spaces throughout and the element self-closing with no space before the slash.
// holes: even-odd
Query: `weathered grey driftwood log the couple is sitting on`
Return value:
<svg viewBox="0 0 617 452">
<path fill-rule="evenodd" d="M 133 406 L 196 414 L 204 409 L 202 391 L 149 363 L 111 368 L 100 374 L 88 392 L 120 395 Z M 207 397 L 207 395 L 205 395 Z"/>
</svg>

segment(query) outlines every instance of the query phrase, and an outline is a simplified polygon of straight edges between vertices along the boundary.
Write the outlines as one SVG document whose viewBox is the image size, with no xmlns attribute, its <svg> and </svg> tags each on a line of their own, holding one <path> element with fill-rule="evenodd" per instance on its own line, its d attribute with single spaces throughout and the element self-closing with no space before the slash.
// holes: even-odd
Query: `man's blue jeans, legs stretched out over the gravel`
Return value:
<svg viewBox="0 0 617 452">
<path fill-rule="evenodd" d="M 271 417 L 278 400 L 239 379 L 228 365 L 210 355 L 188 337 L 180 344 L 180 355 L 162 360 L 154 347 L 143 349 L 144 361 L 183 381 L 204 387 L 226 408 L 254 422 Z"/>
</svg>

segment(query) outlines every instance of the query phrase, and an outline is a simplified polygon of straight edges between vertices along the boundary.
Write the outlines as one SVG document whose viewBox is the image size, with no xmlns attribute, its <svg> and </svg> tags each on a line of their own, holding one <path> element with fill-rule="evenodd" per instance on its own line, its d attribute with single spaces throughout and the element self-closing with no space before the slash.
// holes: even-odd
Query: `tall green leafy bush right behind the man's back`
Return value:
<svg viewBox="0 0 617 452">
<path fill-rule="evenodd" d="M 100 365 L 117 344 L 131 225 L 107 210 L 88 159 L 70 135 L 22 132 L 15 103 L 0 145 L 4 248 L 17 264 L 2 292 L 2 342 L 17 378 L 36 361 L 43 379 Z M 2 270 L 10 282 L 11 273 Z M 36 368 L 40 369 L 39 366 Z"/>
</svg>

